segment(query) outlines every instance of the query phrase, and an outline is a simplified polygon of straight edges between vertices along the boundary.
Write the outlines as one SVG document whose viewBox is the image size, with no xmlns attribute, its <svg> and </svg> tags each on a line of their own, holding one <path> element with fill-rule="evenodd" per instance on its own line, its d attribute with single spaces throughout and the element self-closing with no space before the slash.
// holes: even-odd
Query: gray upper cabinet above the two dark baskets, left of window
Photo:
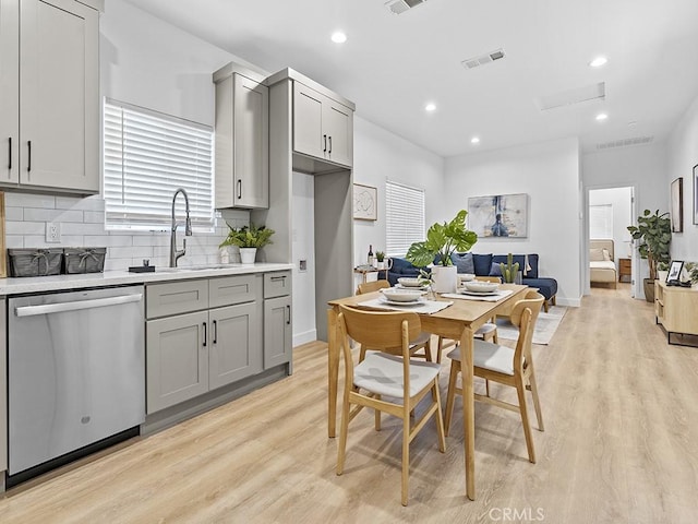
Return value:
<svg viewBox="0 0 698 524">
<path fill-rule="evenodd" d="M 0 183 L 99 192 L 99 12 L 0 0 Z"/>
</svg>

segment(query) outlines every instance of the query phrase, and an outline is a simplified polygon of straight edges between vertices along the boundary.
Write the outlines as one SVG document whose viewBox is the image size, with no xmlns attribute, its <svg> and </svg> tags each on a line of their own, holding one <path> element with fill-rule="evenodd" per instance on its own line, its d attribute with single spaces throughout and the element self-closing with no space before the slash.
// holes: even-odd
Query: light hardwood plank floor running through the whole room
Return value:
<svg viewBox="0 0 698 524">
<path fill-rule="evenodd" d="M 474 502 L 464 495 L 458 415 L 446 454 L 433 424 L 412 442 L 407 508 L 398 420 L 384 417 L 375 432 L 362 413 L 349 428 L 345 474 L 335 475 L 325 348 L 297 348 L 294 374 L 276 384 L 15 488 L 0 499 L 0 522 L 698 520 L 698 348 L 667 345 L 651 306 L 630 299 L 628 285 L 594 288 L 549 346 L 534 346 L 545 421 L 545 432 L 533 430 L 537 464 L 515 413 L 476 405 Z"/>
</svg>

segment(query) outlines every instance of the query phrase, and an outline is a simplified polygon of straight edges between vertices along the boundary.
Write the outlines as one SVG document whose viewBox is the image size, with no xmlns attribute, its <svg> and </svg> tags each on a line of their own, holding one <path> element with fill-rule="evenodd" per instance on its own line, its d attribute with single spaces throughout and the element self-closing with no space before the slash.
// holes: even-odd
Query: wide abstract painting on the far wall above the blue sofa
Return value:
<svg viewBox="0 0 698 524">
<path fill-rule="evenodd" d="M 468 199 L 468 228 L 478 237 L 528 237 L 528 194 Z"/>
</svg>

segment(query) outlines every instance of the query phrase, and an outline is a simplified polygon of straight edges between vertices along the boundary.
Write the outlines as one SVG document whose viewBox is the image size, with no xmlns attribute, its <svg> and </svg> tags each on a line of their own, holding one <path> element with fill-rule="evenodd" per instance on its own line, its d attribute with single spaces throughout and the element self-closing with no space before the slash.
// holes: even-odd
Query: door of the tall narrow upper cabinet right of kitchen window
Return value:
<svg viewBox="0 0 698 524">
<path fill-rule="evenodd" d="M 234 205 L 269 206 L 269 90 L 234 74 Z"/>
</svg>

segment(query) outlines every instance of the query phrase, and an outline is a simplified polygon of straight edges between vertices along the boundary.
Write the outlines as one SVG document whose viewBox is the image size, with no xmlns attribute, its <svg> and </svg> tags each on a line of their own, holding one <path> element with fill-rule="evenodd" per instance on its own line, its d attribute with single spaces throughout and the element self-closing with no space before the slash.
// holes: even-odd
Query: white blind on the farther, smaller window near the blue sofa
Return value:
<svg viewBox="0 0 698 524">
<path fill-rule="evenodd" d="M 385 182 L 385 247 L 388 257 L 405 257 L 412 242 L 424 240 L 424 190 Z"/>
</svg>

